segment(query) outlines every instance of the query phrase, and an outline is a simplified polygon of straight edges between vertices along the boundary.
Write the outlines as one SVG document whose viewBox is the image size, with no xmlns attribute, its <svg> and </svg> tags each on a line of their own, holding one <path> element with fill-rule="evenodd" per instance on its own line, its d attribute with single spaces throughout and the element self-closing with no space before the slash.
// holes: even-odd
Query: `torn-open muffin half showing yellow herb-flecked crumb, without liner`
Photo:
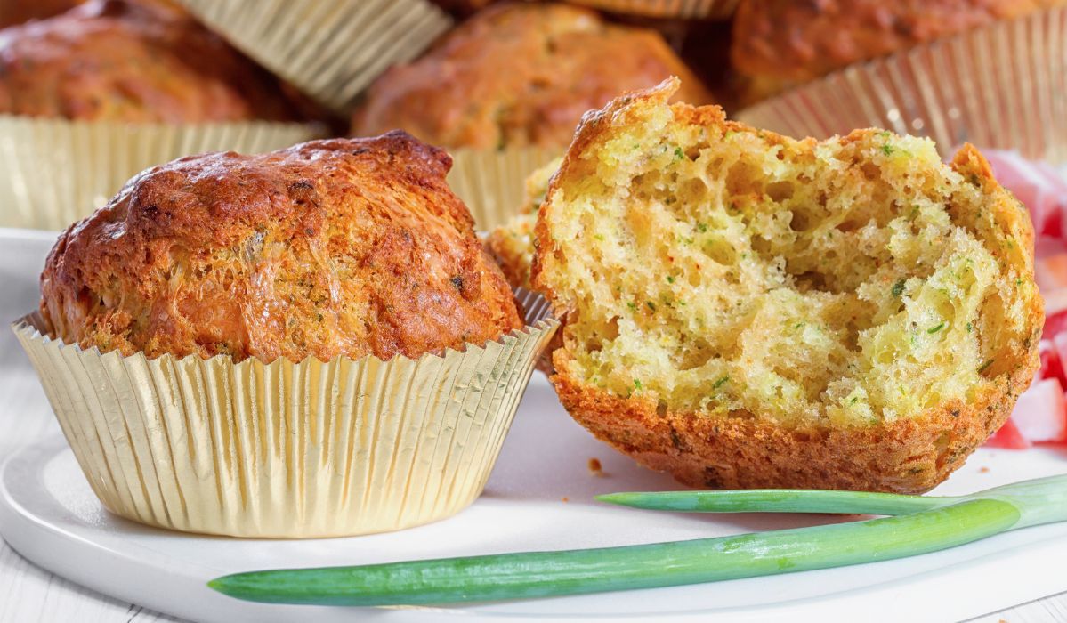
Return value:
<svg viewBox="0 0 1067 623">
<path fill-rule="evenodd" d="M 969 145 L 797 141 L 676 89 L 587 115 L 540 208 L 563 405 L 688 485 L 938 484 L 1038 366 L 1025 211 Z"/>
</svg>

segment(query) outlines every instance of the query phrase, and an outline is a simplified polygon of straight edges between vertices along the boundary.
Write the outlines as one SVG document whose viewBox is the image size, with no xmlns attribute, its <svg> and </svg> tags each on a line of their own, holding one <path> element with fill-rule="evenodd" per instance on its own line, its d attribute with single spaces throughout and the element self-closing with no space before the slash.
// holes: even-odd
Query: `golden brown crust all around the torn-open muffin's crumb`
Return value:
<svg viewBox="0 0 1067 623">
<path fill-rule="evenodd" d="M 582 158 L 615 124 L 636 118 L 635 100 L 663 103 L 673 81 L 659 89 L 631 93 L 603 110 L 590 111 L 563 157 L 548 189 L 551 196 L 560 180 L 591 175 L 593 159 Z M 718 107 L 695 108 L 673 105 L 676 119 L 686 124 L 724 124 L 736 131 L 753 131 L 743 124 L 724 119 Z M 842 141 L 857 140 L 871 130 L 857 130 Z M 768 144 L 784 139 L 762 131 Z M 814 143 L 809 139 L 807 142 Z M 990 195 L 999 189 L 986 159 L 973 146 L 965 145 L 952 162 L 953 169 L 981 186 Z M 1006 193 L 997 193 L 991 206 L 997 227 L 1019 244 L 991 249 L 1001 261 L 1022 267 L 1033 278 L 1033 228 L 1026 213 Z M 573 371 L 568 349 L 568 317 L 577 310 L 567 297 L 543 278 L 541 265 L 555 254 L 566 261 L 553 243 L 545 215 L 551 202 L 541 208 L 535 237 L 531 281 L 553 303 L 561 326 L 552 351 L 555 368 L 551 381 L 563 406 L 598 438 L 630 454 L 641 464 L 671 473 L 680 482 L 698 488 L 816 488 L 897 493 L 922 493 L 964 464 L 1008 418 L 1016 399 L 1033 380 L 1039 360 L 1037 341 L 1044 324 L 1039 297 L 1024 299 L 1023 315 L 1036 328 L 1025 349 L 1005 346 L 983 374 L 992 383 L 980 387 L 970 401 L 939 404 L 914 417 L 880 421 L 864 427 L 832 428 L 810 425 L 786 427 L 774 419 L 746 411 L 726 414 L 673 411 L 666 404 L 636 393 L 618 396 L 592 385 Z"/>
</svg>

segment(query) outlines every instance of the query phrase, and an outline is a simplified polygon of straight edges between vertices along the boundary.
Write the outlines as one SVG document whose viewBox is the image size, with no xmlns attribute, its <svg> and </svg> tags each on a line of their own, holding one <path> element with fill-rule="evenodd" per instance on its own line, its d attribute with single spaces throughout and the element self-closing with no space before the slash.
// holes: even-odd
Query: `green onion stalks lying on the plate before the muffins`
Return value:
<svg viewBox="0 0 1067 623">
<path fill-rule="evenodd" d="M 781 508 L 778 505 L 782 504 L 819 509 L 817 512 L 827 508 L 834 512 L 898 512 L 909 507 L 925 510 L 848 524 L 650 545 L 239 573 L 213 579 L 208 586 L 241 600 L 278 604 L 385 606 L 521 600 L 890 560 L 962 545 L 1005 530 L 1067 521 L 1067 476 L 961 498 L 847 492 L 718 492 L 711 497 L 697 494 L 620 495 L 648 496 L 646 502 L 660 496 L 673 500 L 670 504 L 686 496 L 706 497 L 717 500 L 711 506 L 729 510 Z M 739 501 L 730 501 L 730 496 L 737 496 Z M 939 505 L 947 506 L 937 508 Z"/>
</svg>

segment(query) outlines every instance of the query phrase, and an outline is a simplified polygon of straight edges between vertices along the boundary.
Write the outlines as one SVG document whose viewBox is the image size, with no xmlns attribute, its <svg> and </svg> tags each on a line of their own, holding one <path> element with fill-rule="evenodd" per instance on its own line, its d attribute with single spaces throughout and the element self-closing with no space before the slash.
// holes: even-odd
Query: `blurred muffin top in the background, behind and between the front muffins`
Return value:
<svg viewBox="0 0 1067 623">
<path fill-rule="evenodd" d="M 353 132 L 402 128 L 448 147 L 564 147 L 587 110 L 671 75 L 687 85 L 680 99 L 711 99 L 655 31 L 561 4 L 503 4 L 386 71 Z"/>
</svg>

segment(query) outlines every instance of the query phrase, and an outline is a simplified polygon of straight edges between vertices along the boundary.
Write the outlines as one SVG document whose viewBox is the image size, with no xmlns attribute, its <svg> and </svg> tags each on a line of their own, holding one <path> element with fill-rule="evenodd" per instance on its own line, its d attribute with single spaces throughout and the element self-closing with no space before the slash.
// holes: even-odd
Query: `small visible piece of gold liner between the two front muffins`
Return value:
<svg viewBox="0 0 1067 623">
<path fill-rule="evenodd" d="M 545 147 L 450 149 L 448 186 L 471 209 L 475 227 L 489 231 L 519 212 L 526 201 L 529 174 L 561 153 Z"/>
</svg>

